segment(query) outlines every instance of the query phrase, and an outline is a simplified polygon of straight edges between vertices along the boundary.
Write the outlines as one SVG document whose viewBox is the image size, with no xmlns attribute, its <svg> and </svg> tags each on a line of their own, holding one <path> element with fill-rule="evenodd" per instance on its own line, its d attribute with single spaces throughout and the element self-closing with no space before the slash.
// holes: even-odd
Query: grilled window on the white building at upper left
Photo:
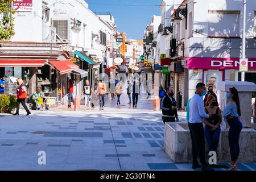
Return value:
<svg viewBox="0 0 256 182">
<path fill-rule="evenodd" d="M 68 20 L 53 20 L 53 27 L 56 28 L 56 34 L 62 40 L 68 40 Z"/>
</svg>

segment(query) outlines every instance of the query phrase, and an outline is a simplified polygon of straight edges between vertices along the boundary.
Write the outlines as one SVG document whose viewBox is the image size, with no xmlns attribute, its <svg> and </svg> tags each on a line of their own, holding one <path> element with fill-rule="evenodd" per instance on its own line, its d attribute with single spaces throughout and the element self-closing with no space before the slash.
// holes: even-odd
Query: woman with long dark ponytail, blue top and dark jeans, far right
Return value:
<svg viewBox="0 0 256 182">
<path fill-rule="evenodd" d="M 228 171 L 236 171 L 238 167 L 237 159 L 240 153 L 239 138 L 243 126 L 239 119 L 241 116 L 241 109 L 238 91 L 234 86 L 228 90 L 226 98 L 230 100 L 223 111 L 223 117 L 225 118 L 225 121 L 228 121 L 230 126 L 229 147 L 231 163 Z"/>
</svg>

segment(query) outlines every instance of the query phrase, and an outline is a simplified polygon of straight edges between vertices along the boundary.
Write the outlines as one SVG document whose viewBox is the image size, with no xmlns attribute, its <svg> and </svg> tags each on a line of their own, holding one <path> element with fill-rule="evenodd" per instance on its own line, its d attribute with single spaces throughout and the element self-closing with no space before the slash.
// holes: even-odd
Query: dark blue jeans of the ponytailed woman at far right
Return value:
<svg viewBox="0 0 256 182">
<path fill-rule="evenodd" d="M 242 123 L 238 118 L 228 119 L 229 129 L 229 147 L 231 160 L 236 161 L 240 153 L 239 137 L 242 130 Z"/>
</svg>

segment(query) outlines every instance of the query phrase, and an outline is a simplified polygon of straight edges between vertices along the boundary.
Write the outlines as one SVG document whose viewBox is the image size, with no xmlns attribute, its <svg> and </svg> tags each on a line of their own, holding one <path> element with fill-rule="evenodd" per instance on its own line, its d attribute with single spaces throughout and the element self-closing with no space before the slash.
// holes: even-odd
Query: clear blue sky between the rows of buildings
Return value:
<svg viewBox="0 0 256 182">
<path fill-rule="evenodd" d="M 161 0 L 85 0 L 92 11 L 110 12 L 118 31 L 126 32 L 127 38 L 142 39 L 143 32 L 152 16 L 160 15 Z"/>
</svg>

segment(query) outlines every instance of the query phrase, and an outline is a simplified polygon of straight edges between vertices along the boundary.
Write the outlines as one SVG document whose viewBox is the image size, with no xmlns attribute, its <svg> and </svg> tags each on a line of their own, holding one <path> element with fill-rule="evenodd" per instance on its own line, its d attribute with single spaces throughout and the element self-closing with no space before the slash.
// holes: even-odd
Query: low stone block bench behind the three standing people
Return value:
<svg viewBox="0 0 256 182">
<path fill-rule="evenodd" d="M 221 128 L 217 148 L 217 162 L 230 162 L 228 130 Z M 187 122 L 166 122 L 164 125 L 164 151 L 174 163 L 192 163 L 191 137 Z M 208 161 L 208 146 L 205 139 L 205 157 Z M 256 130 L 243 128 L 240 134 L 238 162 L 256 162 Z"/>
</svg>

